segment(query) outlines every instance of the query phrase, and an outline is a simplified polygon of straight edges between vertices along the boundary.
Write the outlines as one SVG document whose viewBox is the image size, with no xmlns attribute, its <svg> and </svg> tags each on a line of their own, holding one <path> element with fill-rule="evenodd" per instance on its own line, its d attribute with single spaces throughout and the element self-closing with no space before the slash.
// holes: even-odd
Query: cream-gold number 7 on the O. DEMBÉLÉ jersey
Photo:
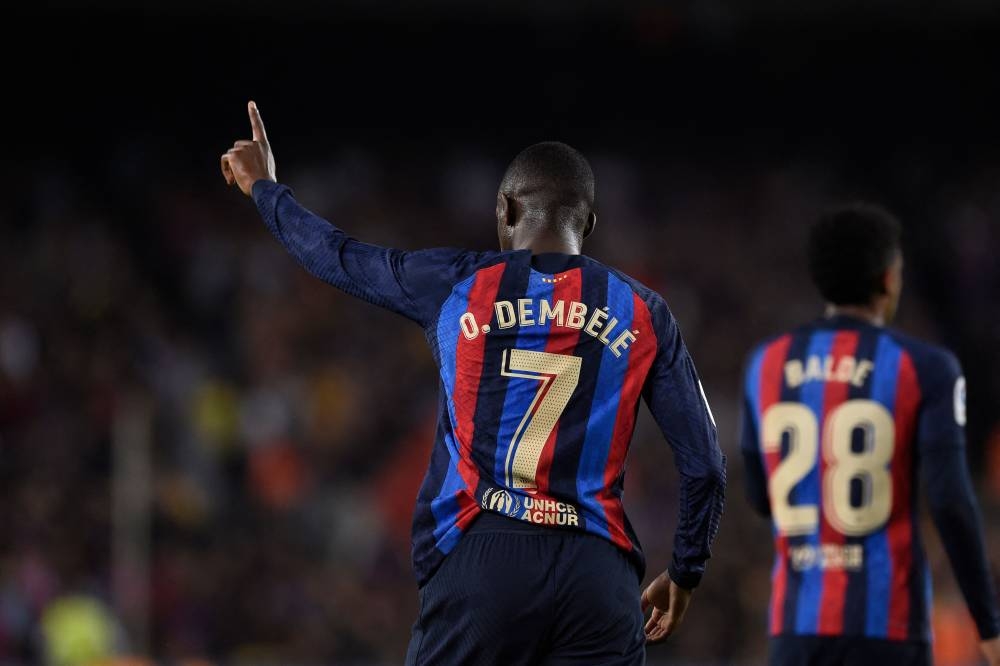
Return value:
<svg viewBox="0 0 1000 666">
<path fill-rule="evenodd" d="M 508 488 L 534 490 L 538 486 L 538 459 L 552 429 L 580 381 L 579 356 L 526 349 L 504 350 L 500 374 L 534 379 L 538 391 L 514 432 L 504 463 Z"/>
</svg>

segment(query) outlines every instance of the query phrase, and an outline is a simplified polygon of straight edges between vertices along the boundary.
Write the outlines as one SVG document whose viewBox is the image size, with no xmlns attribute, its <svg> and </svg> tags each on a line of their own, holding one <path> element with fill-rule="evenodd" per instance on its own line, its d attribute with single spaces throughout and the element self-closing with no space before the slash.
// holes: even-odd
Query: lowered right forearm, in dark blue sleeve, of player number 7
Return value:
<svg viewBox="0 0 1000 666">
<path fill-rule="evenodd" d="M 718 451 L 718 449 L 716 449 Z M 697 475 L 681 472 L 680 508 L 670 578 L 685 589 L 701 582 L 712 555 L 726 494 L 726 459 L 721 452 Z"/>
</svg>

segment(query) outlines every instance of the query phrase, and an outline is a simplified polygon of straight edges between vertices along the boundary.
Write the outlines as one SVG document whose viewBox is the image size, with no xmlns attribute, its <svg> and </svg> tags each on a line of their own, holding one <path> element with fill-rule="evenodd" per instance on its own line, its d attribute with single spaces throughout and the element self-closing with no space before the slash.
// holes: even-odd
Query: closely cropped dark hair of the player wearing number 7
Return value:
<svg viewBox="0 0 1000 666">
<path fill-rule="evenodd" d="M 580 151 L 559 141 L 528 146 L 510 163 L 500 192 L 549 204 L 594 205 L 594 172 Z"/>
</svg>

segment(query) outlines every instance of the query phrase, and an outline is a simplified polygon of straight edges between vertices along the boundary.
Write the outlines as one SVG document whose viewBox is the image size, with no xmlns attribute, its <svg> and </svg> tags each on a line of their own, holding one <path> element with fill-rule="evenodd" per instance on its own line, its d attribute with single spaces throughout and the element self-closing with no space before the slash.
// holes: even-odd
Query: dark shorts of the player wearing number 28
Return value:
<svg viewBox="0 0 1000 666">
<path fill-rule="evenodd" d="M 931 648 L 919 641 L 856 636 L 777 636 L 771 666 L 931 666 Z"/>
</svg>

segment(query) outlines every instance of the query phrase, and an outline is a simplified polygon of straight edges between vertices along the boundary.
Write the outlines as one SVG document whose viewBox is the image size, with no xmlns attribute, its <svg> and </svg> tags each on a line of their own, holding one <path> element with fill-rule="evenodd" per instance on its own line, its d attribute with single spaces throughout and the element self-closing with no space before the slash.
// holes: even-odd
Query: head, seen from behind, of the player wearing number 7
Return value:
<svg viewBox="0 0 1000 666">
<path fill-rule="evenodd" d="M 540 233 L 575 238 L 590 235 L 594 214 L 594 172 L 587 158 L 558 141 L 525 148 L 507 167 L 497 193 L 500 248 L 509 250 Z"/>
</svg>

